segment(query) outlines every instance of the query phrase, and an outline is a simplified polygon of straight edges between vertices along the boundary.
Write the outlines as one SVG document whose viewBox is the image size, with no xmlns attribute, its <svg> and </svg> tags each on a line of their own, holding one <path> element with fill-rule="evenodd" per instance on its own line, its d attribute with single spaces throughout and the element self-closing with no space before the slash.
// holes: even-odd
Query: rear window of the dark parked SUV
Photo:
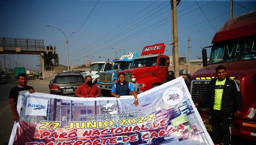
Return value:
<svg viewBox="0 0 256 145">
<path fill-rule="evenodd" d="M 53 83 L 84 83 L 83 76 L 56 76 Z"/>
</svg>

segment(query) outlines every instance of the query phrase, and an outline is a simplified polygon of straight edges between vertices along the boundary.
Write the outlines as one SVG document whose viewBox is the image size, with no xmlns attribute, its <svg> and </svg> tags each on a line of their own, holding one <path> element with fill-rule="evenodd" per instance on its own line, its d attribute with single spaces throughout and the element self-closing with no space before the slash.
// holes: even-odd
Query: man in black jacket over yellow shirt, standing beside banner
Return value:
<svg viewBox="0 0 256 145">
<path fill-rule="evenodd" d="M 211 80 L 202 98 L 195 105 L 209 106 L 215 144 L 220 144 L 222 134 L 225 145 L 230 145 L 232 113 L 235 111 L 234 115 L 240 116 L 243 100 L 236 81 L 226 76 L 226 68 L 223 65 L 216 68 L 216 73 L 218 77 Z"/>
</svg>

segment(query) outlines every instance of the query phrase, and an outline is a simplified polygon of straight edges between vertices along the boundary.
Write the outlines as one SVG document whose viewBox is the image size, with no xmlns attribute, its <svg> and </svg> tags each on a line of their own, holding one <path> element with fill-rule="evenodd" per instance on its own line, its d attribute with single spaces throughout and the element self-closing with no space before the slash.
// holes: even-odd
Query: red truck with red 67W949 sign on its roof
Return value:
<svg viewBox="0 0 256 145">
<path fill-rule="evenodd" d="M 132 69 L 124 70 L 125 80 L 131 81 L 130 76 L 136 75 L 141 91 L 147 91 L 166 82 L 169 57 L 163 55 L 165 43 L 146 46 L 139 57 L 134 58 Z"/>
</svg>

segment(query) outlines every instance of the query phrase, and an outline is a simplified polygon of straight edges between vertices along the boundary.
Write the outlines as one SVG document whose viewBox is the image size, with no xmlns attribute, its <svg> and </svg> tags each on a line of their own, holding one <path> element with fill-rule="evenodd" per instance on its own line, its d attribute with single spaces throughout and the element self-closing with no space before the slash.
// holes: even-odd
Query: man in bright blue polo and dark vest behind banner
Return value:
<svg viewBox="0 0 256 145">
<path fill-rule="evenodd" d="M 125 81 L 125 74 L 124 73 L 119 73 L 118 74 L 118 79 L 119 81 L 114 84 L 114 87 L 111 91 L 111 95 L 119 98 L 120 96 L 126 96 L 129 95 L 130 92 L 132 92 L 132 94 L 134 95 L 135 101 L 133 102 L 133 104 L 135 104 L 135 106 L 139 105 L 139 101 L 137 98 L 137 94 L 134 90 L 134 88 L 132 87 L 132 84 Z"/>
</svg>

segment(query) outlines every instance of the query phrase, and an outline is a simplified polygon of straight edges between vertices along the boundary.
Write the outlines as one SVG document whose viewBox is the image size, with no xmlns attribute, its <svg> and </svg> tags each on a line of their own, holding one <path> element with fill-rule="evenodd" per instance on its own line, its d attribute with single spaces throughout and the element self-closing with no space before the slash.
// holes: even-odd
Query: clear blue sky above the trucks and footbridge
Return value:
<svg viewBox="0 0 256 145">
<path fill-rule="evenodd" d="M 41 39 L 56 46 L 59 63 L 67 65 L 64 34 L 68 37 L 69 65 L 87 60 L 112 61 L 121 54 L 155 43 L 166 43 L 172 53 L 169 0 L 1 0 L 0 37 Z M 256 10 L 256 0 L 233 0 L 233 17 Z M 216 31 L 230 18 L 230 0 L 181 0 L 177 6 L 179 56 L 201 57 Z M 115 48 L 115 49 L 111 49 Z M 39 55 L 0 54 L 6 67 L 38 70 Z M 209 55 L 209 54 L 208 54 Z M 89 57 L 87 57 L 89 56 Z M 101 58 L 100 58 L 101 57 Z M 20 64 L 20 65 L 19 65 Z M 2 66 L 3 68 L 3 66 Z"/>
</svg>

